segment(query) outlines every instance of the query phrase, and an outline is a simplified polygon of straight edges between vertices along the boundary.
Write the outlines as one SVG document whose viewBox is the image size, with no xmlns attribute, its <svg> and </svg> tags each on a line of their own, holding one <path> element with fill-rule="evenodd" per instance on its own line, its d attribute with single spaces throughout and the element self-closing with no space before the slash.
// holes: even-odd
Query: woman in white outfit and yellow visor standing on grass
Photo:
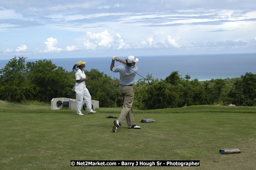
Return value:
<svg viewBox="0 0 256 170">
<path fill-rule="evenodd" d="M 86 78 L 85 72 L 83 71 L 83 68 L 85 68 L 85 62 L 79 61 L 73 66 L 73 71 L 76 70 L 76 68 L 79 68 L 76 71 L 76 86 L 75 86 L 75 92 L 76 92 L 76 110 L 77 115 L 84 115 L 81 112 L 82 109 L 82 101 L 85 99 L 85 104 L 87 107 L 88 113 L 96 113 L 96 111 L 93 111 L 91 108 L 91 95 L 86 88 L 85 82 L 88 81 L 88 78 Z"/>
</svg>

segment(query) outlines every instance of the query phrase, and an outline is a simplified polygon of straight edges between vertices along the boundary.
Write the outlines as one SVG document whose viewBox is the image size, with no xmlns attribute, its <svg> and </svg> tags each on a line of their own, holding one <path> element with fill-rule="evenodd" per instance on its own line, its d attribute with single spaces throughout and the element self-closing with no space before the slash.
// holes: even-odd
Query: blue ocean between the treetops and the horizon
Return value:
<svg viewBox="0 0 256 170">
<path fill-rule="evenodd" d="M 137 57 L 137 56 L 136 56 Z M 124 59 L 126 57 L 119 57 Z M 256 74 L 256 53 L 246 54 L 212 54 L 212 55 L 165 55 L 165 56 L 138 56 L 138 73 L 143 77 L 152 75 L 155 79 L 165 79 L 172 71 L 178 71 L 180 77 L 190 75 L 192 79 L 199 81 L 211 79 L 234 78 L 245 75 L 246 72 Z M 34 62 L 43 59 L 26 59 Z M 72 71 L 76 62 L 85 61 L 85 70 L 91 68 L 100 72 L 119 78 L 118 73 L 110 71 L 111 57 L 80 57 L 80 58 L 51 58 L 56 66 L 62 66 L 66 71 Z M 0 68 L 3 68 L 9 60 L 0 60 Z M 121 65 L 115 62 L 115 65 Z M 141 79 L 136 75 L 136 81 Z"/>
</svg>

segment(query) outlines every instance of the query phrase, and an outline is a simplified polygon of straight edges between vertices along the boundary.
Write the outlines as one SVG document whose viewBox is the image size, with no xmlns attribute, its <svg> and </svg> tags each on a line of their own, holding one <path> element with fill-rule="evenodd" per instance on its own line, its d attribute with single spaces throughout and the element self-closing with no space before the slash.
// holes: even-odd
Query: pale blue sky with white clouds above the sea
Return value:
<svg viewBox="0 0 256 170">
<path fill-rule="evenodd" d="M 256 53 L 255 0 L 0 0 L 0 60 Z"/>
</svg>

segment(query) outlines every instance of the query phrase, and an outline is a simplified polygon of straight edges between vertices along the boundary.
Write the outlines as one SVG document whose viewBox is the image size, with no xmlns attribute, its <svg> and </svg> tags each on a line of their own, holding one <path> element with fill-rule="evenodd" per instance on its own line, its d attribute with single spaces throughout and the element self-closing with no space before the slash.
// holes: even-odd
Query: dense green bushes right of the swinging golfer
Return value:
<svg viewBox="0 0 256 170">
<path fill-rule="evenodd" d="M 140 109 L 175 108 L 205 104 L 256 106 L 256 75 L 246 73 L 240 78 L 189 81 L 173 71 L 165 80 L 145 79 L 136 84 L 135 106 Z"/>
</svg>

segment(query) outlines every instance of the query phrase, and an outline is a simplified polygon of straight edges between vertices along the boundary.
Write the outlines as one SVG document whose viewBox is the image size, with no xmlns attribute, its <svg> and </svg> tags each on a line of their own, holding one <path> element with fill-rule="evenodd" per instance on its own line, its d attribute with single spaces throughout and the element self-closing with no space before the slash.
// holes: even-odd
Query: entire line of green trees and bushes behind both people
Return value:
<svg viewBox="0 0 256 170">
<path fill-rule="evenodd" d="M 51 60 L 25 62 L 25 57 L 14 57 L 0 70 L 0 99 L 10 102 L 36 100 L 50 102 L 52 98 L 76 98 L 71 91 L 75 85 L 75 72 L 65 71 Z M 91 69 L 85 71 L 86 83 L 92 99 L 100 107 L 121 107 L 119 79 Z M 153 80 L 149 86 L 147 80 Z M 256 106 L 256 74 L 245 73 L 238 78 L 211 79 L 200 82 L 190 80 L 173 71 L 165 79 L 147 75 L 134 84 L 134 108 L 158 109 L 205 104 L 235 104 Z"/>
</svg>

